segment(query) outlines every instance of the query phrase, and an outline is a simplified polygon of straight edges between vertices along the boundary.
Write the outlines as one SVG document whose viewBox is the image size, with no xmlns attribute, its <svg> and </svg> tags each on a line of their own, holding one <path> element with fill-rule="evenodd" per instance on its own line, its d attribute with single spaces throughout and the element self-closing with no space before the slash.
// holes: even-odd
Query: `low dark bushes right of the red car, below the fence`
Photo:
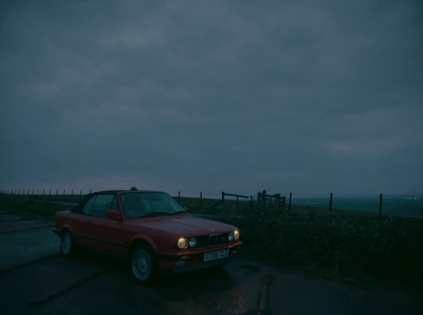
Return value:
<svg viewBox="0 0 423 315">
<path fill-rule="evenodd" d="M 260 260 L 422 287 L 423 221 L 329 213 L 217 215 L 241 230 L 243 251 Z"/>
</svg>

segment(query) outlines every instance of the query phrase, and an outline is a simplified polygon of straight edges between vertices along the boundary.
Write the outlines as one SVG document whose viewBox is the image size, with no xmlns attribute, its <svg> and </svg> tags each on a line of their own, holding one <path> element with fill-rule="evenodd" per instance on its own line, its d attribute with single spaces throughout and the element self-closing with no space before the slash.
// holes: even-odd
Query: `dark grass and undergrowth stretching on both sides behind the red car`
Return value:
<svg viewBox="0 0 423 315">
<path fill-rule="evenodd" d="M 65 196 L 66 197 L 66 196 Z M 61 201 L 77 202 L 66 198 Z M 41 199 L 41 198 L 39 198 Z M 178 197 L 175 197 L 178 200 Z M 423 220 L 373 213 L 292 206 L 291 212 L 247 202 L 180 198 L 193 213 L 213 214 L 217 221 L 241 229 L 245 258 L 295 266 L 353 283 L 387 281 L 423 289 Z M 51 221 L 71 205 L 36 201 L 28 196 L 1 196 L 0 208 L 27 218 Z"/>
</svg>

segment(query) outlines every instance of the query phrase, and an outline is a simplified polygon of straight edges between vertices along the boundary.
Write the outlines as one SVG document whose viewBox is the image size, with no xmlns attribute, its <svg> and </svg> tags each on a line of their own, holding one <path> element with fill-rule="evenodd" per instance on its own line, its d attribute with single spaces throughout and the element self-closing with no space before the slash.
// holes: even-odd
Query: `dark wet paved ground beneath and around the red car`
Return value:
<svg viewBox="0 0 423 315">
<path fill-rule="evenodd" d="M 421 293 L 357 288 L 274 266 L 235 261 L 222 270 L 161 277 L 142 287 L 126 262 L 82 252 L 67 260 L 51 223 L 0 213 L 0 313 L 257 314 L 269 276 L 268 314 L 421 314 Z"/>
</svg>

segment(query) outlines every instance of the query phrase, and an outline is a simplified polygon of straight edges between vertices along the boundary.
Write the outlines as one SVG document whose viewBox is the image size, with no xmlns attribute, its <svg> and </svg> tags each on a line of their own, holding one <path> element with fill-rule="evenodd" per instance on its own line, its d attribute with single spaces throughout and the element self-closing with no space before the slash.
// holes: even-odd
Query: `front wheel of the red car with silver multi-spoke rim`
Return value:
<svg viewBox="0 0 423 315">
<path fill-rule="evenodd" d="M 132 250 L 131 271 L 135 281 L 141 285 L 149 285 L 157 279 L 157 259 L 149 246 L 140 244 Z"/>
</svg>

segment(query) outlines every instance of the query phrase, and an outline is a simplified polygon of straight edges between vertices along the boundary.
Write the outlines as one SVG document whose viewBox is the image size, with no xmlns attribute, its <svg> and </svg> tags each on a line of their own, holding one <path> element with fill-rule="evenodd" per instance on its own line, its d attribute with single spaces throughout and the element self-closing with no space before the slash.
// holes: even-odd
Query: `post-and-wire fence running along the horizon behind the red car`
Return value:
<svg viewBox="0 0 423 315">
<path fill-rule="evenodd" d="M 28 196 L 33 199 L 46 201 L 77 203 L 86 194 L 91 193 L 91 191 L 82 193 L 82 190 L 66 191 L 64 189 L 61 191 L 59 189 L 46 190 L 30 188 L 22 190 L 3 189 L 0 193 L 14 196 Z M 254 196 L 247 196 L 222 192 L 221 198 L 205 198 L 203 192 L 200 192 L 196 197 L 193 195 L 187 197 L 181 196 L 181 192 L 179 191 L 178 196 L 173 196 L 173 198 L 182 205 L 197 209 L 222 209 L 222 207 L 227 207 L 240 210 L 250 207 L 250 210 L 253 210 L 261 204 L 266 204 L 269 207 L 287 211 L 295 210 L 298 207 L 307 207 L 316 208 L 316 210 L 327 210 L 329 212 L 334 210 L 358 210 L 379 215 L 382 215 L 383 211 L 383 214 L 391 216 L 420 217 L 423 215 L 423 196 L 421 195 L 383 196 L 382 193 L 379 196 L 334 196 L 330 193 L 327 197 L 295 197 L 292 193 L 286 194 L 287 196 L 283 196 L 282 194 L 264 195 L 263 193 L 257 193 Z"/>
</svg>

